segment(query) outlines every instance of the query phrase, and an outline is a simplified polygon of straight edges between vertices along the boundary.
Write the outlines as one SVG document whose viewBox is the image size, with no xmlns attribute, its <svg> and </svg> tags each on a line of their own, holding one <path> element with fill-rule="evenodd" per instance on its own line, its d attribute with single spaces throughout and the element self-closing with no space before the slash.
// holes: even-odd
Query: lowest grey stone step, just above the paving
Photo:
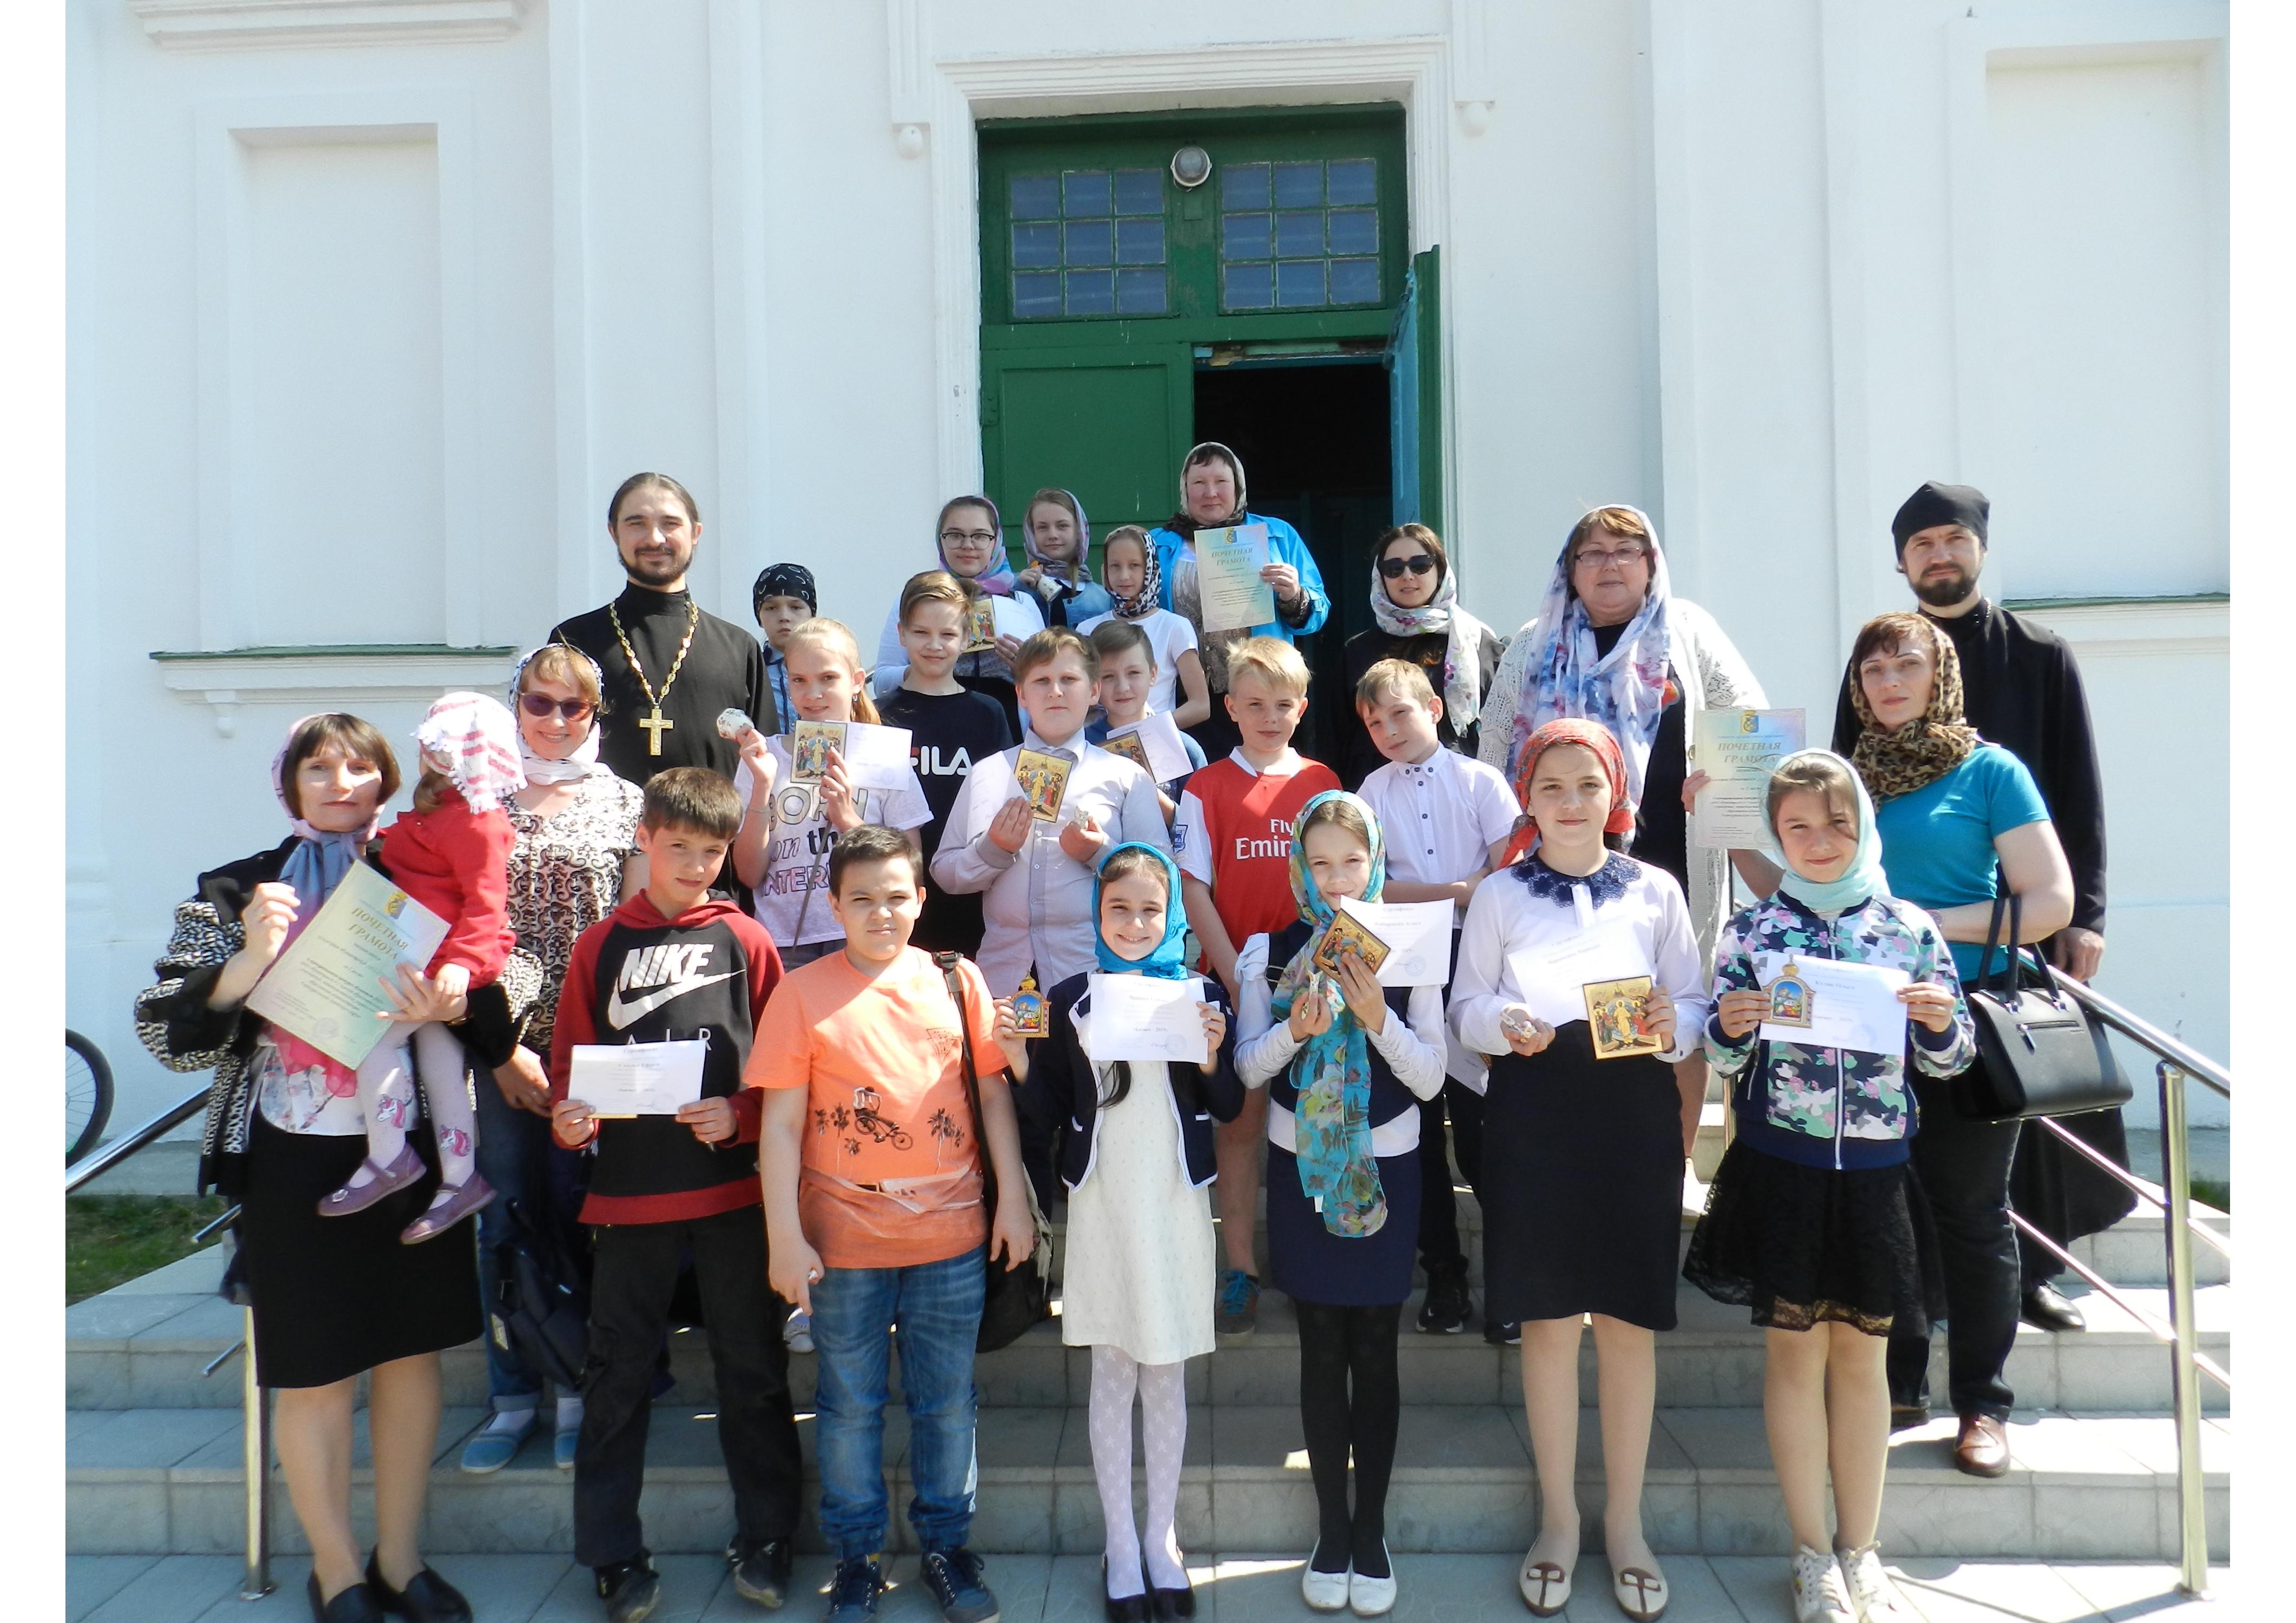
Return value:
<svg viewBox="0 0 2296 1623">
<path fill-rule="evenodd" d="M 537 1435 L 494 1476 L 455 1458 L 482 1423 L 452 1410 L 441 1428 L 422 1545 L 432 1554 L 551 1554 L 572 1540 L 572 1474 Z M 372 1515 L 365 1423 L 354 1460 L 354 1515 Z M 813 1474 L 813 1419 L 801 1419 Z M 2227 1545 L 2229 1432 L 2204 1423 L 2211 1552 Z M 2174 1435 L 2161 1416 L 2023 1410 L 2009 1426 L 2016 1465 L 1998 1481 L 1952 1467 L 1952 1421 L 1901 1432 L 1890 1449 L 1883 1547 L 1913 1556 L 2172 1559 Z M 1203 1405 L 1189 1414 L 1180 1540 L 1192 1550 L 1306 1550 L 1316 1497 L 1295 1403 Z M 907 1421 L 886 1416 L 895 1508 L 907 1497 Z M 1600 1538 L 1600 1432 L 1580 1426 L 1577 1497 Z M 241 1540 L 239 1416 L 227 1410 L 78 1412 L 67 1423 L 67 1554 L 230 1554 Z M 820 1550 L 815 1492 L 801 1545 Z M 1389 1543 L 1398 1552 L 1520 1552 L 1536 1524 L 1536 1481 L 1520 1405 L 1407 1405 Z M 1784 1508 L 1752 1407 L 1658 1412 L 1644 1488 L 1660 1552 L 1784 1554 Z M 895 1540 L 909 1529 L 895 1513 Z M 714 1552 L 730 1536 L 726 1471 L 707 1410 L 657 1405 L 647 1444 L 645 1536 L 659 1552 Z M 1217 1529 L 1217 1536 L 1215 1536 Z M 301 1552 L 285 1488 L 278 1547 Z M 1015 1407 L 978 1432 L 974 1543 L 992 1552 L 1084 1554 L 1100 1547 L 1100 1501 L 1081 1407 Z"/>
</svg>

